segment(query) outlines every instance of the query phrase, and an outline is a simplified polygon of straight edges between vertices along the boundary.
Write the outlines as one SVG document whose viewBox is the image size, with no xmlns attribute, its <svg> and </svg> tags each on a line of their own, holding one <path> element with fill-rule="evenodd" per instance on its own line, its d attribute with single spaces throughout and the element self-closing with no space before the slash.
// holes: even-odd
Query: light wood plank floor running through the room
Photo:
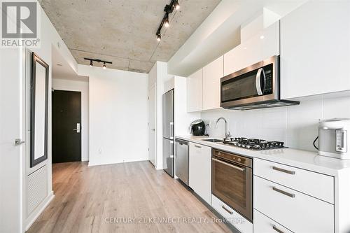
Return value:
<svg viewBox="0 0 350 233">
<path fill-rule="evenodd" d="M 52 177 L 55 198 L 28 232 L 231 232 L 212 223 L 214 213 L 150 162 L 53 164 Z M 117 223 L 127 218 L 134 223 Z"/>
</svg>

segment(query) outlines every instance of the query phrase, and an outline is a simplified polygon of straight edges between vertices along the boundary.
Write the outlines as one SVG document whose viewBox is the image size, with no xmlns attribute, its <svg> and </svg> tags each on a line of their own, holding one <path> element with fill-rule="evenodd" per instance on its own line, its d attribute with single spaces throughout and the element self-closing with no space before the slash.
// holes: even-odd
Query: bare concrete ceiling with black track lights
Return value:
<svg viewBox="0 0 350 233">
<path fill-rule="evenodd" d="M 78 64 L 91 57 L 141 73 L 155 61 L 167 62 L 220 1 L 179 0 L 158 42 L 155 32 L 170 0 L 39 0 Z"/>
</svg>

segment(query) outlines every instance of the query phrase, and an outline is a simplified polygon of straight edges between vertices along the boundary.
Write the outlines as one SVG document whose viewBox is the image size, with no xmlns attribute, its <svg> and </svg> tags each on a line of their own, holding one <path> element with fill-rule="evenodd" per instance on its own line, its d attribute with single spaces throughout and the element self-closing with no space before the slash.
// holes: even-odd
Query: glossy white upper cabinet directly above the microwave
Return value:
<svg viewBox="0 0 350 233">
<path fill-rule="evenodd" d="M 279 21 L 224 55 L 224 76 L 279 55 Z"/>
</svg>

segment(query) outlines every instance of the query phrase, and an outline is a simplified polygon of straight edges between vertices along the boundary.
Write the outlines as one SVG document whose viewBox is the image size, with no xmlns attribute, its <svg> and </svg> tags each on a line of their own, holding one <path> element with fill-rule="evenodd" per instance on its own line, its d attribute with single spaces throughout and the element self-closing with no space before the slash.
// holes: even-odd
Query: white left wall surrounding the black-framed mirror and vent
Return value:
<svg viewBox="0 0 350 233">
<path fill-rule="evenodd" d="M 32 52 L 36 52 L 36 54 L 41 57 L 48 65 L 49 65 L 49 81 L 48 81 L 48 86 L 49 89 L 52 85 L 52 76 L 51 76 L 51 71 L 52 71 L 52 49 L 57 50 L 62 57 L 66 60 L 66 62 L 71 66 L 71 69 L 74 71 L 77 70 L 77 64 L 73 56 L 71 55 L 71 52 L 69 49 L 66 47 L 64 44 L 64 41 L 62 41 L 62 38 L 60 38 L 59 34 L 57 33 L 55 27 L 53 27 L 52 23 L 48 19 L 47 15 L 45 15 L 45 12 L 41 9 L 41 46 L 40 48 L 32 49 Z M 2 52 L 2 51 L 1 51 Z M 18 70 L 22 71 L 22 82 L 25 82 L 25 77 L 26 75 L 28 76 L 28 73 L 26 73 L 26 68 L 25 68 L 25 62 L 29 62 L 28 60 L 26 61 L 25 59 L 25 50 L 23 50 L 22 53 L 22 58 L 18 60 Z M 6 62 L 11 62 L 6 61 Z M 11 74 L 12 76 L 12 74 Z M 11 76 L 8 76 L 8 78 L 11 78 Z M 25 87 L 23 88 L 23 93 L 25 92 Z M 27 98 L 27 97 L 25 97 Z M 22 103 L 25 105 L 27 103 L 27 99 L 23 99 Z M 25 106 L 25 108 L 29 108 L 29 106 Z M 51 161 L 52 161 L 52 143 L 51 143 L 51 134 L 52 134 L 52 128 L 51 128 L 51 114 L 52 113 L 52 106 L 51 106 L 51 92 L 50 90 L 48 91 L 48 160 L 45 160 L 44 162 L 41 162 L 41 164 L 36 165 L 33 168 L 29 167 L 29 131 L 26 130 L 26 134 L 23 135 L 22 139 L 26 141 L 26 143 L 23 145 L 23 153 L 22 156 L 25 158 L 23 160 L 22 164 L 18 164 L 18 166 L 22 166 L 23 168 L 23 173 L 22 173 L 22 199 L 18 200 L 18 203 L 20 203 L 21 206 L 21 218 L 20 221 L 21 223 L 21 228 L 22 230 L 27 230 L 30 225 L 36 220 L 38 215 L 43 211 L 45 206 L 52 200 L 53 198 L 53 192 L 52 192 L 52 166 L 51 166 Z M 28 111 L 23 111 L 21 114 L 24 118 L 28 118 Z M 27 115 L 26 115 L 27 114 Z M 25 123 L 23 126 L 25 129 L 29 129 L 29 125 Z M 28 208 L 28 200 L 32 199 L 32 197 L 28 196 L 28 179 L 31 174 L 38 170 L 40 167 L 44 166 L 44 169 L 46 169 L 46 174 L 47 177 L 43 179 L 41 185 L 41 188 L 45 187 L 45 190 L 47 190 L 47 195 L 46 197 L 34 208 L 34 211 L 29 213 Z M 15 181 L 14 181 L 15 182 Z"/>
</svg>

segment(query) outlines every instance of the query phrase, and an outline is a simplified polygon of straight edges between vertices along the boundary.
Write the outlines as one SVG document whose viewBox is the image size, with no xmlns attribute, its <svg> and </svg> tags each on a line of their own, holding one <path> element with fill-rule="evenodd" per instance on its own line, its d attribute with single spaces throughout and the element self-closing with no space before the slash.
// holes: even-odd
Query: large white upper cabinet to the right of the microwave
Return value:
<svg viewBox="0 0 350 233">
<path fill-rule="evenodd" d="M 281 19 L 281 99 L 350 90 L 350 1 L 308 1 Z"/>
</svg>

